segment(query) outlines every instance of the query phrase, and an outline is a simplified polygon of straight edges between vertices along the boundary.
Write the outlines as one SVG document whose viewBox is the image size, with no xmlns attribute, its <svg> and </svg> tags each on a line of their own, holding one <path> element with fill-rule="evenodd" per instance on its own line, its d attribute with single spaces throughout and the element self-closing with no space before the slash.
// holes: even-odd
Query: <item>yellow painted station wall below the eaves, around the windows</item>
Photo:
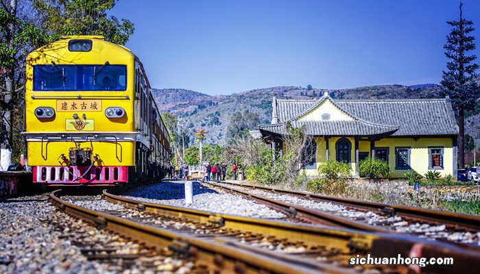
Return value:
<svg viewBox="0 0 480 274">
<path fill-rule="evenodd" d="M 351 163 L 352 173 L 355 173 L 355 138 L 348 137 L 352 143 L 351 149 Z M 324 138 L 315 138 L 317 141 L 317 161 L 315 168 L 305 169 L 305 173 L 309 176 L 317 176 L 317 168 L 320 163 L 326 162 L 326 142 Z M 329 159 L 336 160 L 335 143 L 339 137 L 332 137 L 328 140 Z M 384 138 L 375 142 L 375 147 L 389 147 L 389 166 L 391 177 L 405 177 L 406 170 L 395 169 L 395 147 L 411 147 L 410 151 L 410 166 L 414 171 L 424 175 L 429 171 L 429 147 L 444 147 L 444 169 L 439 171 L 442 176 L 453 175 L 453 140 L 452 138 L 420 138 L 414 140 L 413 138 Z M 370 142 L 359 141 L 359 152 L 369 152 L 370 157 Z"/>
</svg>

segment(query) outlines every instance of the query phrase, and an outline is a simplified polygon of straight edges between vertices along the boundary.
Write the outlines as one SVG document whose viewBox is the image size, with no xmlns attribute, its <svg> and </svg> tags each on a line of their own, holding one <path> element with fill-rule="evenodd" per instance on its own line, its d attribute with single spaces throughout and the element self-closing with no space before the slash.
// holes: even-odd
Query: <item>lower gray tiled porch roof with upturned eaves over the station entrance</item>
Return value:
<svg viewBox="0 0 480 274">
<path fill-rule="evenodd" d="M 390 135 L 398 127 L 376 125 L 361 120 L 356 121 L 291 121 L 292 127 L 305 125 L 305 133 L 313 136 L 375 136 Z M 287 134 L 284 123 L 275 125 L 261 125 L 261 131 L 273 132 L 280 135 Z"/>
</svg>

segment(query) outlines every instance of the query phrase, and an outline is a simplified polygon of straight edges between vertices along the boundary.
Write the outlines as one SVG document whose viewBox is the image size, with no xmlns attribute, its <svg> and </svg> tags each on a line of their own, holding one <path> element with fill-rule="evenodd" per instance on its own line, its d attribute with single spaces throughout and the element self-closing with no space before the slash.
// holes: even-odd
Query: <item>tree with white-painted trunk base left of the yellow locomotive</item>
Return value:
<svg viewBox="0 0 480 274">
<path fill-rule="evenodd" d="M 28 5 L 20 5 L 16 0 L 1 0 L 0 4 L 0 170 L 6 170 L 12 163 L 13 147 L 25 150 L 25 144 L 14 146 L 13 143 L 14 131 L 16 136 L 23 131 L 14 125 L 23 121 L 23 111 L 19 108 L 23 108 L 25 101 L 25 57 L 32 49 L 51 40 L 34 24 L 35 12 Z M 23 142 L 21 136 L 17 139 Z"/>
</svg>

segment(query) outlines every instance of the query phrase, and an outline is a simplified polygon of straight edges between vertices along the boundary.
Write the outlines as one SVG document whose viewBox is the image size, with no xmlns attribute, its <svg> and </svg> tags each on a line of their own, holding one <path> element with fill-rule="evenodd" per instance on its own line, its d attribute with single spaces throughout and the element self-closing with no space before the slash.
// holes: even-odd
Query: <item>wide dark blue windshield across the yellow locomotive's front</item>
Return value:
<svg viewBox="0 0 480 274">
<path fill-rule="evenodd" d="M 106 62 L 99 65 L 34 65 L 34 90 L 88 91 L 126 90 L 127 66 Z"/>
</svg>

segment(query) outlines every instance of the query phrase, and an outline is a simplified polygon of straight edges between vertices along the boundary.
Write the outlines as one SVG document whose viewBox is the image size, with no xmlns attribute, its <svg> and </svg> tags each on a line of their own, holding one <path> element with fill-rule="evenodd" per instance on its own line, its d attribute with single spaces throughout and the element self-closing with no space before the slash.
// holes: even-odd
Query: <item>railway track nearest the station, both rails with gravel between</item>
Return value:
<svg viewBox="0 0 480 274">
<path fill-rule="evenodd" d="M 448 242 L 455 242 L 456 238 L 461 238 L 460 236 L 470 235 L 470 238 L 476 239 L 477 245 L 480 245 L 480 218 L 478 216 L 407 206 L 392 206 L 386 203 L 316 195 L 310 192 L 282 190 L 248 184 L 230 182 L 220 182 L 221 184 L 213 182 L 204 183 L 249 197 L 278 210 L 283 210 L 283 212 L 293 212 L 296 217 L 312 223 L 383 233 L 398 232 L 398 230 L 406 227 L 404 229 L 405 233 Z M 299 206 L 298 204 L 285 202 L 285 200 L 289 200 L 282 199 L 285 195 L 297 197 L 296 203 L 314 201 L 318 204 L 326 203 L 328 207 L 335 208 L 334 206 L 337 205 L 340 208 L 329 211 L 330 209 L 318 210 L 307 206 Z M 346 212 L 352 212 L 350 218 L 344 216 L 349 215 Z M 376 218 L 377 220 L 372 222 L 368 218 Z M 473 240 L 466 241 L 469 245 L 458 242 L 460 242 L 459 240 L 457 240 L 457 244 L 464 245 L 464 247 L 479 249 L 478 246 L 472 245 Z"/>
</svg>

